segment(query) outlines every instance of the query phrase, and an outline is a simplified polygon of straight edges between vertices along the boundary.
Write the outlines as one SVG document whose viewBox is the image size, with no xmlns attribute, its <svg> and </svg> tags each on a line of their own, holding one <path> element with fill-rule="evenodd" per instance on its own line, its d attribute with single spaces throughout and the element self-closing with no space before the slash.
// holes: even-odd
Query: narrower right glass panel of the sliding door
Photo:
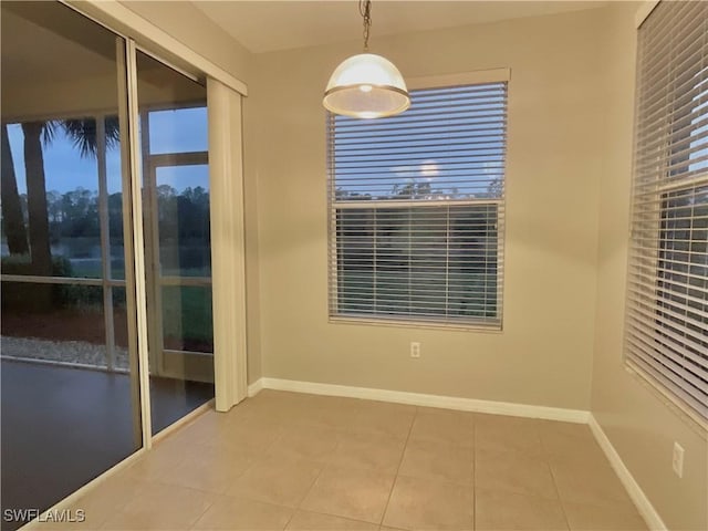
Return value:
<svg viewBox="0 0 708 531">
<path fill-rule="evenodd" d="M 207 94 L 140 52 L 137 74 L 157 433 L 214 397 Z"/>
</svg>

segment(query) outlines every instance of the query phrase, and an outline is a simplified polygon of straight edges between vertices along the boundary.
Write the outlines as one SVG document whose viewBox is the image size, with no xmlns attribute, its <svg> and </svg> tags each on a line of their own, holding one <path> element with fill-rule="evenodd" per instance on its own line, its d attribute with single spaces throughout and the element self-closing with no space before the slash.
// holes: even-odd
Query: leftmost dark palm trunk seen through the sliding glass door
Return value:
<svg viewBox="0 0 708 531">
<path fill-rule="evenodd" d="M 18 181 L 14 175 L 12 152 L 8 137 L 8 126 L 2 125 L 2 169 L 0 187 L 2 187 L 2 230 L 8 239 L 10 254 L 29 254 L 22 204 L 18 192 Z"/>
</svg>

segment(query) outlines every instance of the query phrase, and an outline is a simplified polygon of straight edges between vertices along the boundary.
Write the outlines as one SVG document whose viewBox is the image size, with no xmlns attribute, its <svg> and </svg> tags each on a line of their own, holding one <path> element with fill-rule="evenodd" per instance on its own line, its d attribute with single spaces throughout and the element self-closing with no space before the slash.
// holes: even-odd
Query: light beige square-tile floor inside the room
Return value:
<svg viewBox="0 0 708 531">
<path fill-rule="evenodd" d="M 83 530 L 646 529 L 587 426 L 273 391 L 72 509 Z"/>
</svg>

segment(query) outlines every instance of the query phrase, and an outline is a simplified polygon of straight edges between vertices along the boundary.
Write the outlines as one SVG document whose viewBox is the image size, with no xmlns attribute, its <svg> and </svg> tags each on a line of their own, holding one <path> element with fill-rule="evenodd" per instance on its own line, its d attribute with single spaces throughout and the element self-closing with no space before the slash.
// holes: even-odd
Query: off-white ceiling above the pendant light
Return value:
<svg viewBox="0 0 708 531">
<path fill-rule="evenodd" d="M 351 41 L 362 37 L 357 0 L 192 0 L 214 22 L 254 53 Z M 372 42 L 381 35 L 579 11 L 606 1 L 372 2 Z"/>
</svg>

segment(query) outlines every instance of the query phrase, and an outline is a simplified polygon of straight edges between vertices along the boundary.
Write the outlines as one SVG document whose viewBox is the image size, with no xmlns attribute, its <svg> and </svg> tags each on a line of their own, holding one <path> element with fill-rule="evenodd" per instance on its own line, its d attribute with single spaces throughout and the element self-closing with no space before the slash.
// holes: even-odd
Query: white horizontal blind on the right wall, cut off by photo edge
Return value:
<svg viewBox="0 0 708 531">
<path fill-rule="evenodd" d="M 708 2 L 638 30 L 626 357 L 708 418 Z"/>
</svg>

